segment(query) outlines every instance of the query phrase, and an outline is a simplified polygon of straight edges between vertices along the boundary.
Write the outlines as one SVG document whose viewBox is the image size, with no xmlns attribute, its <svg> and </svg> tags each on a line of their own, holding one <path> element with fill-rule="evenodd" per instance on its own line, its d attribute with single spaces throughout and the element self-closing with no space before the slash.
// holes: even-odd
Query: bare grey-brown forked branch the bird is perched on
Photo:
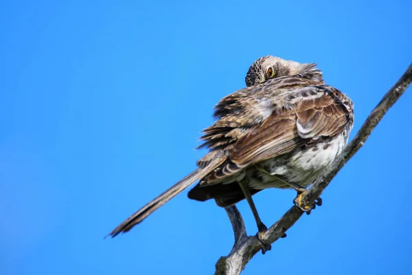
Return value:
<svg viewBox="0 0 412 275">
<path fill-rule="evenodd" d="M 382 120 L 389 108 L 404 94 L 412 81 L 412 63 L 398 82 L 389 89 L 387 94 L 380 100 L 379 104 L 371 111 L 368 118 L 363 123 L 361 129 L 346 146 L 339 157 L 336 157 L 333 164 L 326 169 L 321 177 L 310 186 L 302 198 L 302 202 L 311 203 L 320 197 L 321 193 L 330 184 L 330 181 L 343 168 L 346 162 L 365 144 L 376 125 Z M 229 255 L 222 256 L 216 263 L 216 275 L 240 274 L 247 263 L 261 250 L 260 241 L 256 236 L 247 236 L 242 215 L 236 206 L 226 208 L 226 212 L 231 221 L 235 234 L 235 244 Z M 299 208 L 293 206 L 276 223 L 274 223 L 263 235 L 265 243 L 274 243 L 281 238 L 286 230 L 292 227 L 295 222 L 304 214 Z"/>
</svg>

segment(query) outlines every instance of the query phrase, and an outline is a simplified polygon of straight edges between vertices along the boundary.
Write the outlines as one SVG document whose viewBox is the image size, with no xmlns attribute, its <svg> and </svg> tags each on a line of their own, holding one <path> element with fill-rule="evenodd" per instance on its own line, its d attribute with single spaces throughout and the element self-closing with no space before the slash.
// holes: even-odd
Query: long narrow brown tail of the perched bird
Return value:
<svg viewBox="0 0 412 275">
<path fill-rule="evenodd" d="M 224 160 L 224 158 L 214 159 L 214 161 L 208 164 L 205 168 L 194 170 L 185 178 L 181 179 L 181 181 L 177 184 L 174 184 L 174 186 L 170 187 L 168 190 L 165 190 L 165 192 L 161 193 L 161 195 L 150 201 L 146 204 L 146 206 L 142 207 L 140 210 L 137 210 L 135 214 L 131 215 L 128 219 L 126 219 L 126 221 L 120 223 L 120 225 L 117 226 L 117 228 L 115 228 L 112 232 L 108 233 L 107 236 L 111 236 L 113 238 L 120 232 L 128 232 L 128 230 L 133 228 L 133 226 L 138 223 L 141 223 L 141 221 L 146 219 L 146 217 L 152 214 L 152 212 L 155 212 L 155 210 L 163 206 L 163 204 L 170 201 L 170 199 L 174 198 L 176 195 L 179 195 L 179 193 L 183 192 L 183 190 L 194 184 L 199 179 L 205 177 L 205 175 L 214 170 L 214 168 L 222 164 Z"/>
</svg>

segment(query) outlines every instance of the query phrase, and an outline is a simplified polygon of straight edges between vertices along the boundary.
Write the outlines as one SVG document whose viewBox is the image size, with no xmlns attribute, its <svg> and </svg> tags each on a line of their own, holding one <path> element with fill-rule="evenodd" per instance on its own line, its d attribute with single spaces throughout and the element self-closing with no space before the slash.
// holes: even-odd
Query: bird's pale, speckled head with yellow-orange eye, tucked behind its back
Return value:
<svg viewBox="0 0 412 275">
<path fill-rule="evenodd" d="M 276 56 L 264 56 L 249 67 L 245 81 L 247 87 L 250 87 L 271 78 L 300 76 L 323 83 L 322 72 L 316 66 L 314 63 L 297 63 Z"/>
</svg>

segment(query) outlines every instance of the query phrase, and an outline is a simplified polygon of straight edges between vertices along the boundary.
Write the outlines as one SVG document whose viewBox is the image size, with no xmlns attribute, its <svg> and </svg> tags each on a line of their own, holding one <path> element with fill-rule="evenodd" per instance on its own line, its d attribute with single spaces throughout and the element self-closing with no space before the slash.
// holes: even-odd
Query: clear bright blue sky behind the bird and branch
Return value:
<svg viewBox="0 0 412 275">
<path fill-rule="evenodd" d="M 354 133 L 412 61 L 410 1 L 2 1 L 0 273 L 212 274 L 233 244 L 213 201 L 176 197 L 103 236 L 195 168 L 212 108 L 268 54 L 318 63 Z M 412 274 L 412 93 L 243 274 Z M 255 196 L 270 225 L 291 190 Z M 247 203 L 239 203 L 255 234 Z"/>
</svg>

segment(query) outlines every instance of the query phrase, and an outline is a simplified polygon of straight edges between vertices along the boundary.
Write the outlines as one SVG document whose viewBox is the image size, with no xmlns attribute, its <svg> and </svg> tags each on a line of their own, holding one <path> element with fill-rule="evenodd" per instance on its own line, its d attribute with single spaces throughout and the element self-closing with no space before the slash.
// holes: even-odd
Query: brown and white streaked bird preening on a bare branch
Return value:
<svg viewBox="0 0 412 275">
<path fill-rule="evenodd" d="M 209 152 L 197 168 L 120 223 L 108 235 L 128 232 L 189 186 L 190 199 L 214 199 L 220 207 L 243 199 L 259 232 L 267 230 L 252 196 L 266 188 L 297 190 L 299 198 L 339 156 L 352 131 L 354 105 L 326 85 L 316 63 L 258 58 L 245 77 L 247 87 L 222 98 L 214 107 L 214 124 L 203 131 Z"/>
</svg>

